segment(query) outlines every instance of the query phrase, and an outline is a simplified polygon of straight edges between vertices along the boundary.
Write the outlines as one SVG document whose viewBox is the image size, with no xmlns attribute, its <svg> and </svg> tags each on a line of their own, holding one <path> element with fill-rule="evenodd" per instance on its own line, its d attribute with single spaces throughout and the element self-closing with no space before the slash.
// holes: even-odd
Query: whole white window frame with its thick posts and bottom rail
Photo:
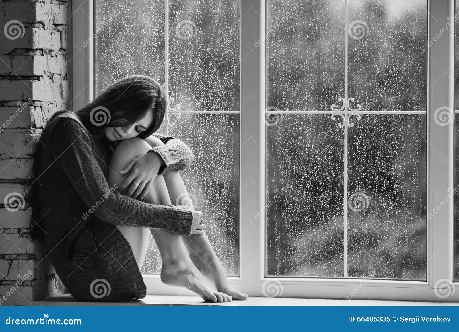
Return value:
<svg viewBox="0 0 459 332">
<path fill-rule="evenodd" d="M 72 90 L 73 107 L 93 98 L 94 1 L 73 0 L 72 4 Z M 344 0 L 343 0 L 344 1 Z M 431 40 L 454 21 L 454 1 L 435 0 L 428 4 L 428 36 Z M 241 85 L 240 85 L 240 276 L 230 284 L 250 296 L 263 296 L 265 277 L 264 216 L 255 220 L 265 205 L 265 125 L 266 108 L 265 43 L 266 0 L 241 0 Z M 434 113 L 447 107 L 453 113 L 454 22 L 428 48 L 427 64 L 427 207 L 432 211 L 443 204 L 453 184 L 453 123 L 434 121 Z M 260 44 L 254 47 L 255 42 Z M 260 42 L 261 41 L 261 42 Z M 83 42 L 88 44 L 82 47 Z M 262 59 L 262 60 L 260 60 Z M 453 115 L 453 114 L 451 114 Z M 381 300 L 459 301 L 459 292 L 440 298 L 443 281 L 453 281 L 454 233 L 453 200 L 449 199 L 427 220 L 427 281 L 347 278 L 276 278 L 282 285 L 281 297 L 347 298 Z M 144 275 L 150 294 L 177 295 L 180 288 L 169 287 L 158 275 Z M 452 283 L 452 287 L 459 283 Z M 266 287 L 266 285 L 264 286 Z M 437 288 L 437 289 L 436 289 Z"/>
</svg>

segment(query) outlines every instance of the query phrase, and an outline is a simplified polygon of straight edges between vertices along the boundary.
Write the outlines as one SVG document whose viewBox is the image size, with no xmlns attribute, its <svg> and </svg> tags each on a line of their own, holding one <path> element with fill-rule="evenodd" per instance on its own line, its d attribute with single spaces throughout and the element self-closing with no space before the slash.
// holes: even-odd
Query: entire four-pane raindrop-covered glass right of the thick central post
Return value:
<svg viewBox="0 0 459 332">
<path fill-rule="evenodd" d="M 268 0 L 267 276 L 426 280 L 427 16 Z"/>
</svg>

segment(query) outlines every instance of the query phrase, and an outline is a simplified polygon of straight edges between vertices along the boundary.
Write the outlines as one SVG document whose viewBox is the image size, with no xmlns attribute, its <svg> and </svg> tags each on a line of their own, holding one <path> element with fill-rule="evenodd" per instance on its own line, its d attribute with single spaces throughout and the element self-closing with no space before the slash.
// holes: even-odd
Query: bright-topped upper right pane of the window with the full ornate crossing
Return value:
<svg viewBox="0 0 459 332">
<path fill-rule="evenodd" d="M 426 0 L 349 0 L 349 96 L 364 110 L 426 110 L 427 16 Z"/>
</svg>

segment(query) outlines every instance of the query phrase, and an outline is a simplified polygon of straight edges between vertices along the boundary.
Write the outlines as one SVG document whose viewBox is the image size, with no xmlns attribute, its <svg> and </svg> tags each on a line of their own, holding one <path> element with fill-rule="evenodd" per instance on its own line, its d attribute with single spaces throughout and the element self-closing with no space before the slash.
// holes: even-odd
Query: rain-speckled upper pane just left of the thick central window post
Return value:
<svg viewBox="0 0 459 332">
<path fill-rule="evenodd" d="M 170 96 L 183 110 L 239 110 L 239 1 L 169 1 Z"/>
</svg>

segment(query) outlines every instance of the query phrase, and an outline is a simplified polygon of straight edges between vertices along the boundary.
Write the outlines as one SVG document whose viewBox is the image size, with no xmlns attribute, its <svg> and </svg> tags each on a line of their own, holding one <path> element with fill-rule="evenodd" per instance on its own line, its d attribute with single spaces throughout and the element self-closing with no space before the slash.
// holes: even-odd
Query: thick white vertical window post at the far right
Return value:
<svg viewBox="0 0 459 332">
<path fill-rule="evenodd" d="M 438 287 L 453 279 L 453 122 L 442 125 L 437 110 L 450 110 L 454 100 L 454 1 L 429 1 L 427 64 L 427 281 Z M 452 24 L 451 24 L 452 23 Z M 441 208 L 438 208 L 441 207 Z"/>
</svg>

